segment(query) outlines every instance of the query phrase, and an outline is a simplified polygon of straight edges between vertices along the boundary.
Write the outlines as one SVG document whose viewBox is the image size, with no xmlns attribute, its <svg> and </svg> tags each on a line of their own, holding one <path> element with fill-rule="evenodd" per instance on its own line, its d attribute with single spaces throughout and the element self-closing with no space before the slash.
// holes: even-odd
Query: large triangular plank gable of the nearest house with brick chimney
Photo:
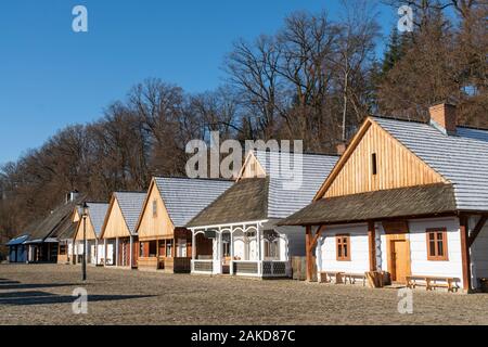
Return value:
<svg viewBox="0 0 488 347">
<path fill-rule="evenodd" d="M 433 183 L 448 181 L 372 118 L 367 118 L 314 201 Z"/>
</svg>

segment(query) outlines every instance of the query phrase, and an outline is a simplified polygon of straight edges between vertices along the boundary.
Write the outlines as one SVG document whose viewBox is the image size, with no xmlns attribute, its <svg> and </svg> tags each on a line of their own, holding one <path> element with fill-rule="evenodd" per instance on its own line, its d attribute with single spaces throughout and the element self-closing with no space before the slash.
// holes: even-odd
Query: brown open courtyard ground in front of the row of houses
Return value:
<svg viewBox="0 0 488 347">
<path fill-rule="evenodd" d="M 488 295 L 398 292 L 88 268 L 88 314 L 74 314 L 81 269 L 0 265 L 0 324 L 488 324 Z"/>
</svg>

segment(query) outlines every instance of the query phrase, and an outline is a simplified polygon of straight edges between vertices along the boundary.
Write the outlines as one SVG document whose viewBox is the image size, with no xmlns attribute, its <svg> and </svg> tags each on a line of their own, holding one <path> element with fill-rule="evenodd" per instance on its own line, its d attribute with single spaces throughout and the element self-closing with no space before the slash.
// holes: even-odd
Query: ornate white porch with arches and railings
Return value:
<svg viewBox="0 0 488 347">
<path fill-rule="evenodd" d="M 241 224 L 194 228 L 192 237 L 211 243 L 211 253 L 192 249 L 191 272 L 256 278 L 290 277 L 290 259 L 282 248 L 285 240 L 265 230 L 267 220 Z"/>
</svg>

